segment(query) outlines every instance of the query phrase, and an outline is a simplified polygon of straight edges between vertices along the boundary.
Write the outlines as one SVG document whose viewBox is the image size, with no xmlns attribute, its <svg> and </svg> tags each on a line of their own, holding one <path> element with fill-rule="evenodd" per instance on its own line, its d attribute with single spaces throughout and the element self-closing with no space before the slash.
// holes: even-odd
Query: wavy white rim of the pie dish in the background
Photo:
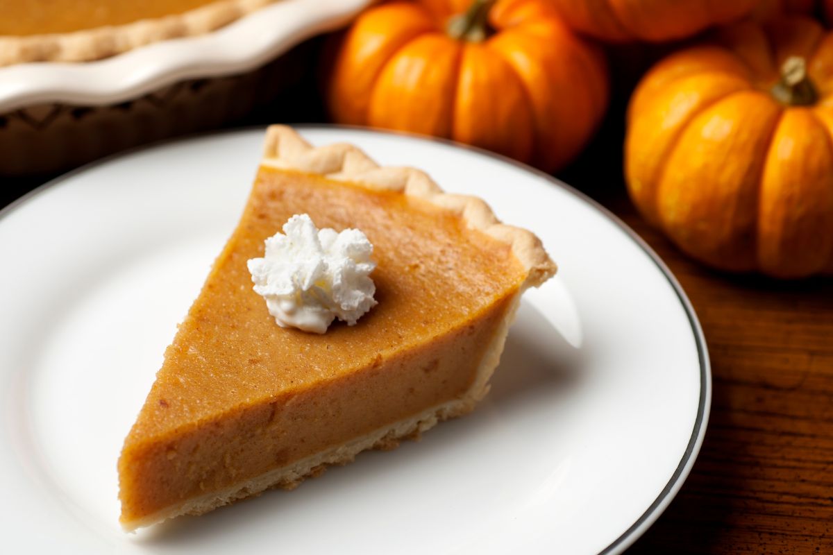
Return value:
<svg viewBox="0 0 833 555">
<path fill-rule="evenodd" d="M 247 72 L 342 26 L 372 0 L 280 0 L 199 37 L 155 42 L 100 62 L 0 67 L 0 113 L 45 102 L 99 106 L 184 79 Z"/>
</svg>

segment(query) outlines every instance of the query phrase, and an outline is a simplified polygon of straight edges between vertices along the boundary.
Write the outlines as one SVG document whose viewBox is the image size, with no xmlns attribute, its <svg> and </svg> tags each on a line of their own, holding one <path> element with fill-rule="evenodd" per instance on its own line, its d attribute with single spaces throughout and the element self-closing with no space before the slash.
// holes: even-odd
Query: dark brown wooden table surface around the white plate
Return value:
<svg viewBox="0 0 833 555">
<path fill-rule="evenodd" d="M 247 123 L 285 116 L 266 112 Z M 323 120 L 320 107 L 290 117 Z M 700 317 L 714 379 L 691 476 L 628 553 L 833 553 L 833 280 L 724 275 L 686 259 L 627 200 L 622 133 L 614 108 L 561 177 L 614 211 L 666 261 Z M 0 207 L 37 182 L 0 177 Z"/>
</svg>

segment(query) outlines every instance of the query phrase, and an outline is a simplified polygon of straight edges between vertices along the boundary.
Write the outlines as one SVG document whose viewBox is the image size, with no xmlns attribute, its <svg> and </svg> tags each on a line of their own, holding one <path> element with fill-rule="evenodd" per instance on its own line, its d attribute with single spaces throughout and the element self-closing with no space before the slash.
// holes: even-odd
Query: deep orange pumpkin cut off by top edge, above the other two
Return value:
<svg viewBox="0 0 833 555">
<path fill-rule="evenodd" d="M 570 27 L 609 42 L 662 42 L 745 16 L 758 0 L 551 0 Z"/>
</svg>

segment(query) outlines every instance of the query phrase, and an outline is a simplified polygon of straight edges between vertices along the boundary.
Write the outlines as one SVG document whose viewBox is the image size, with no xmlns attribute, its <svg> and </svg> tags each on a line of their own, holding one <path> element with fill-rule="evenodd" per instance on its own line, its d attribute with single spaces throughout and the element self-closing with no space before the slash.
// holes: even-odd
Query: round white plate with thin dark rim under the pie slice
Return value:
<svg viewBox="0 0 833 555">
<path fill-rule="evenodd" d="M 287 493 L 135 535 L 116 459 L 177 321 L 232 230 L 262 130 L 172 142 L 53 181 L 0 219 L 0 523 L 12 552 L 619 553 L 670 503 L 706 429 L 696 316 L 592 201 L 479 151 L 307 127 L 419 166 L 541 236 L 489 397 L 421 442 Z"/>
</svg>

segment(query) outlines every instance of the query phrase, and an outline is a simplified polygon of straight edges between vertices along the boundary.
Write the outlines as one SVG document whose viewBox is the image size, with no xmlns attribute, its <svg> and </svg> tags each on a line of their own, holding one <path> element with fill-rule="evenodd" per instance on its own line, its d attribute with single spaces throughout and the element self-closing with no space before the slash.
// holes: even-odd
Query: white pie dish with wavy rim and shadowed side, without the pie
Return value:
<svg viewBox="0 0 833 555">
<path fill-rule="evenodd" d="M 49 175 L 238 121 L 313 71 L 306 39 L 371 0 L 278 0 L 216 31 L 96 62 L 0 67 L 0 176 Z"/>
</svg>

